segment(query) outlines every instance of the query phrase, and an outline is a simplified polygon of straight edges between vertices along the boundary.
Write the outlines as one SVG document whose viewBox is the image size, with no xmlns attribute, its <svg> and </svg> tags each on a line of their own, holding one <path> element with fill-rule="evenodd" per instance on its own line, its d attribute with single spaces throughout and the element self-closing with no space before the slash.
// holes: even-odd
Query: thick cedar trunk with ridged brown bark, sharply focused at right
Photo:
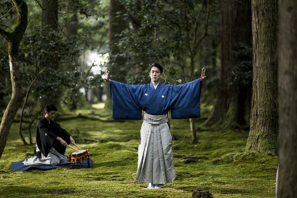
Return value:
<svg viewBox="0 0 297 198">
<path fill-rule="evenodd" d="M 253 0 L 253 92 L 246 150 L 276 152 L 276 28 L 277 0 Z"/>
</svg>

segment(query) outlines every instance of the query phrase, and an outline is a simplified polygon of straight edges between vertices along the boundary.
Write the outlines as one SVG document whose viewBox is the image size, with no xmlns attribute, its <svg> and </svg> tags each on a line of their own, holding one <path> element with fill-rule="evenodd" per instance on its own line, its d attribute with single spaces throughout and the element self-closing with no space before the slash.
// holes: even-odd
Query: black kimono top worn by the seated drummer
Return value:
<svg viewBox="0 0 297 198">
<path fill-rule="evenodd" d="M 67 144 L 70 144 L 70 134 L 62 129 L 60 125 L 52 120 L 48 121 L 46 117 L 41 119 L 37 124 L 36 144 L 39 152 L 34 150 L 36 156 L 41 158 L 41 153 L 48 156 L 50 148 L 54 148 L 60 154 L 64 154 L 66 147 L 56 140 L 62 138 Z"/>
</svg>

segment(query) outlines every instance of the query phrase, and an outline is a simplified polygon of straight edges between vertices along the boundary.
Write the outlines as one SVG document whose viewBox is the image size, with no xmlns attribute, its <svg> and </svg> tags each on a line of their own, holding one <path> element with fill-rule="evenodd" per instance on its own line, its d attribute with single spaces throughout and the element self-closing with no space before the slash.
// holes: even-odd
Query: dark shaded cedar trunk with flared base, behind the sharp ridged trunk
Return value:
<svg viewBox="0 0 297 198">
<path fill-rule="evenodd" d="M 222 0 L 221 71 L 218 96 L 214 109 L 203 126 L 239 127 L 248 125 L 251 86 L 242 84 L 239 65 L 251 60 L 237 52 L 241 47 L 251 47 L 250 0 Z M 251 67 L 247 68 L 250 70 Z M 240 72 L 248 72 L 241 71 Z"/>
</svg>

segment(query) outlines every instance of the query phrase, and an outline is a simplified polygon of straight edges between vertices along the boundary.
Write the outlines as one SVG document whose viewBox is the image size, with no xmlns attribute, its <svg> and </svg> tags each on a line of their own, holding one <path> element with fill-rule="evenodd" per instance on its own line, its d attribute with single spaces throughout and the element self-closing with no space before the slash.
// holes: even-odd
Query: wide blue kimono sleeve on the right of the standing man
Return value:
<svg viewBox="0 0 297 198">
<path fill-rule="evenodd" d="M 173 93 L 177 96 L 171 107 L 172 119 L 200 117 L 200 94 L 202 83 L 200 78 L 189 83 L 174 86 Z"/>
</svg>

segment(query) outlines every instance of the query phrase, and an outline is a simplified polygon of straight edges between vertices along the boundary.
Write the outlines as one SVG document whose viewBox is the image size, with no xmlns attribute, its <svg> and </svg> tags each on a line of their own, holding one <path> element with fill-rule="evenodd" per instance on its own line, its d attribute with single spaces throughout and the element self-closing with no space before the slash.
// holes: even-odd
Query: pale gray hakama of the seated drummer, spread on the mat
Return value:
<svg viewBox="0 0 297 198">
<path fill-rule="evenodd" d="M 36 145 L 36 151 L 40 151 Z M 60 154 L 59 152 L 53 150 L 52 148 L 49 151 L 48 156 L 41 154 L 41 159 L 37 156 L 27 158 L 23 161 L 23 164 L 28 165 L 57 165 L 57 164 L 66 164 L 70 160 L 67 156 Z"/>
</svg>

